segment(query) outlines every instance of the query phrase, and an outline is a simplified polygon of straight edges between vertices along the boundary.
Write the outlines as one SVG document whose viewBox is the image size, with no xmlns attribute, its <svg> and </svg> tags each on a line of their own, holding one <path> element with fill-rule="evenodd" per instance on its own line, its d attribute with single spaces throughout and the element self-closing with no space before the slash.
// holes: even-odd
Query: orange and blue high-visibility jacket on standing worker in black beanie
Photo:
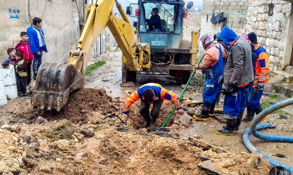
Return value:
<svg viewBox="0 0 293 175">
<path fill-rule="evenodd" d="M 258 59 L 256 61 L 253 88 L 258 86 L 258 82 L 263 82 L 264 85 L 267 85 L 269 83 L 269 73 L 270 73 L 269 57 L 265 48 L 260 46 L 260 44 L 257 44 L 255 46 L 255 50 L 256 50 L 255 53 Z"/>
</svg>

